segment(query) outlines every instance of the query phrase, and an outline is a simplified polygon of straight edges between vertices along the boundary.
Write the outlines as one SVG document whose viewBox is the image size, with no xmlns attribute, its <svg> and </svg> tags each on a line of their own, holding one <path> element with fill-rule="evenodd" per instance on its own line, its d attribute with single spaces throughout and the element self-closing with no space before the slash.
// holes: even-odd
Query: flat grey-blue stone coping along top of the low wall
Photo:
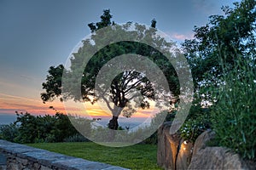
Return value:
<svg viewBox="0 0 256 170">
<path fill-rule="evenodd" d="M 49 167 L 50 169 L 67 169 L 67 170 L 79 170 L 79 169 L 102 169 L 102 170 L 126 170 L 124 167 L 117 167 L 109 165 L 107 163 L 102 163 L 98 161 L 88 161 L 82 158 L 77 158 L 73 156 L 65 156 L 59 153 L 51 152 L 48 150 L 42 150 L 38 148 L 33 148 L 24 144 L 15 144 L 8 142 L 6 140 L 0 139 L 0 153 L 2 155 L 2 160 L 4 155 L 16 156 L 28 161 L 37 162 L 44 167 Z M 3 162 L 2 162 L 3 164 Z"/>
</svg>

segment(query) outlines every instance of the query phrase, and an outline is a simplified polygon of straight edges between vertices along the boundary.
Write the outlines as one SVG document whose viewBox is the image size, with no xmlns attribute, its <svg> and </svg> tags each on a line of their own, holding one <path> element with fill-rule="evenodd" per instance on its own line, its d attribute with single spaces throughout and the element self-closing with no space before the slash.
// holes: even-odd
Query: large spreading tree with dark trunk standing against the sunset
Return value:
<svg viewBox="0 0 256 170">
<path fill-rule="evenodd" d="M 92 41 L 83 41 L 83 46 L 79 48 L 77 53 L 73 54 L 71 58 L 70 70 L 67 71 L 63 65 L 51 66 L 49 68 L 49 75 L 46 78 L 46 82 L 43 83 L 43 89 L 45 92 L 41 94 L 41 99 L 44 102 L 51 101 L 55 97 L 61 96 L 61 77 L 63 71 L 66 75 L 73 74 L 79 71 L 81 68 L 81 63 L 83 63 L 84 56 L 90 50 L 96 50 L 96 54 L 88 61 L 87 66 L 84 68 L 82 81 L 78 82 L 81 84 L 81 94 L 79 96 L 72 89 L 66 90 L 65 94 L 62 94 L 61 101 L 63 99 L 73 99 L 80 102 L 90 102 L 92 105 L 99 99 L 104 100 L 108 106 L 108 110 L 112 112 L 113 118 L 109 121 L 108 127 L 111 129 L 118 129 L 118 118 L 121 113 L 123 116 L 130 117 L 135 109 L 131 106 L 131 100 L 136 99 L 140 96 L 142 99 L 137 103 L 141 108 L 149 108 L 149 100 L 154 100 L 155 89 L 153 88 L 154 82 L 150 82 L 148 77 L 145 76 L 143 72 L 137 72 L 134 70 L 126 70 L 113 78 L 111 82 L 110 89 L 102 92 L 101 85 L 96 84 L 96 76 L 101 70 L 102 66 L 108 65 L 108 61 L 113 59 L 115 56 L 120 56 L 122 54 L 139 54 L 142 56 L 147 56 L 151 59 L 161 71 L 163 71 L 166 80 L 168 82 L 168 88 L 172 94 L 166 94 L 166 92 L 160 92 L 161 95 L 166 95 L 166 100 L 170 100 L 171 97 L 177 96 L 179 94 L 179 83 L 177 79 L 177 73 L 169 60 L 160 53 L 156 48 L 150 47 L 145 43 L 140 42 L 115 42 L 109 44 L 106 47 L 101 47 L 102 39 L 98 39 L 101 36 L 97 35 L 98 31 L 107 26 L 116 26 L 116 24 L 111 20 L 112 15 L 110 10 L 104 10 L 101 16 L 101 21 L 95 23 L 90 23 L 90 31 L 92 32 Z M 131 22 L 128 22 L 125 26 L 120 29 L 124 32 L 129 31 L 129 26 Z M 154 42 L 161 49 L 165 50 L 166 53 L 170 54 L 170 49 L 175 47 L 173 42 L 166 42 L 164 38 L 155 36 L 155 26 L 156 20 L 151 21 L 151 27 L 141 26 L 136 24 L 136 28 L 133 34 L 136 34 L 141 40 Z M 117 27 L 116 29 L 118 29 Z M 108 34 L 108 32 L 104 32 Z M 104 36 L 102 36 L 104 37 Z M 98 49 L 98 47 L 101 47 Z M 128 58 L 128 56 L 127 56 Z M 129 62 L 129 59 L 124 60 L 124 63 L 119 63 L 119 65 Z M 111 65 L 108 65 L 111 67 Z M 145 65 L 147 67 L 147 65 Z M 110 73 L 108 73 L 110 74 Z M 111 75 L 109 75 L 111 77 Z M 108 77 L 107 77 L 108 79 Z M 74 78 L 72 80 L 76 82 Z M 96 90 L 96 85 L 99 86 Z M 139 92 L 139 94 L 134 94 L 134 91 Z M 101 95 L 102 94 L 102 95 Z M 171 96 L 172 95 L 172 96 Z M 100 96 L 100 97 L 99 97 Z"/>
</svg>

